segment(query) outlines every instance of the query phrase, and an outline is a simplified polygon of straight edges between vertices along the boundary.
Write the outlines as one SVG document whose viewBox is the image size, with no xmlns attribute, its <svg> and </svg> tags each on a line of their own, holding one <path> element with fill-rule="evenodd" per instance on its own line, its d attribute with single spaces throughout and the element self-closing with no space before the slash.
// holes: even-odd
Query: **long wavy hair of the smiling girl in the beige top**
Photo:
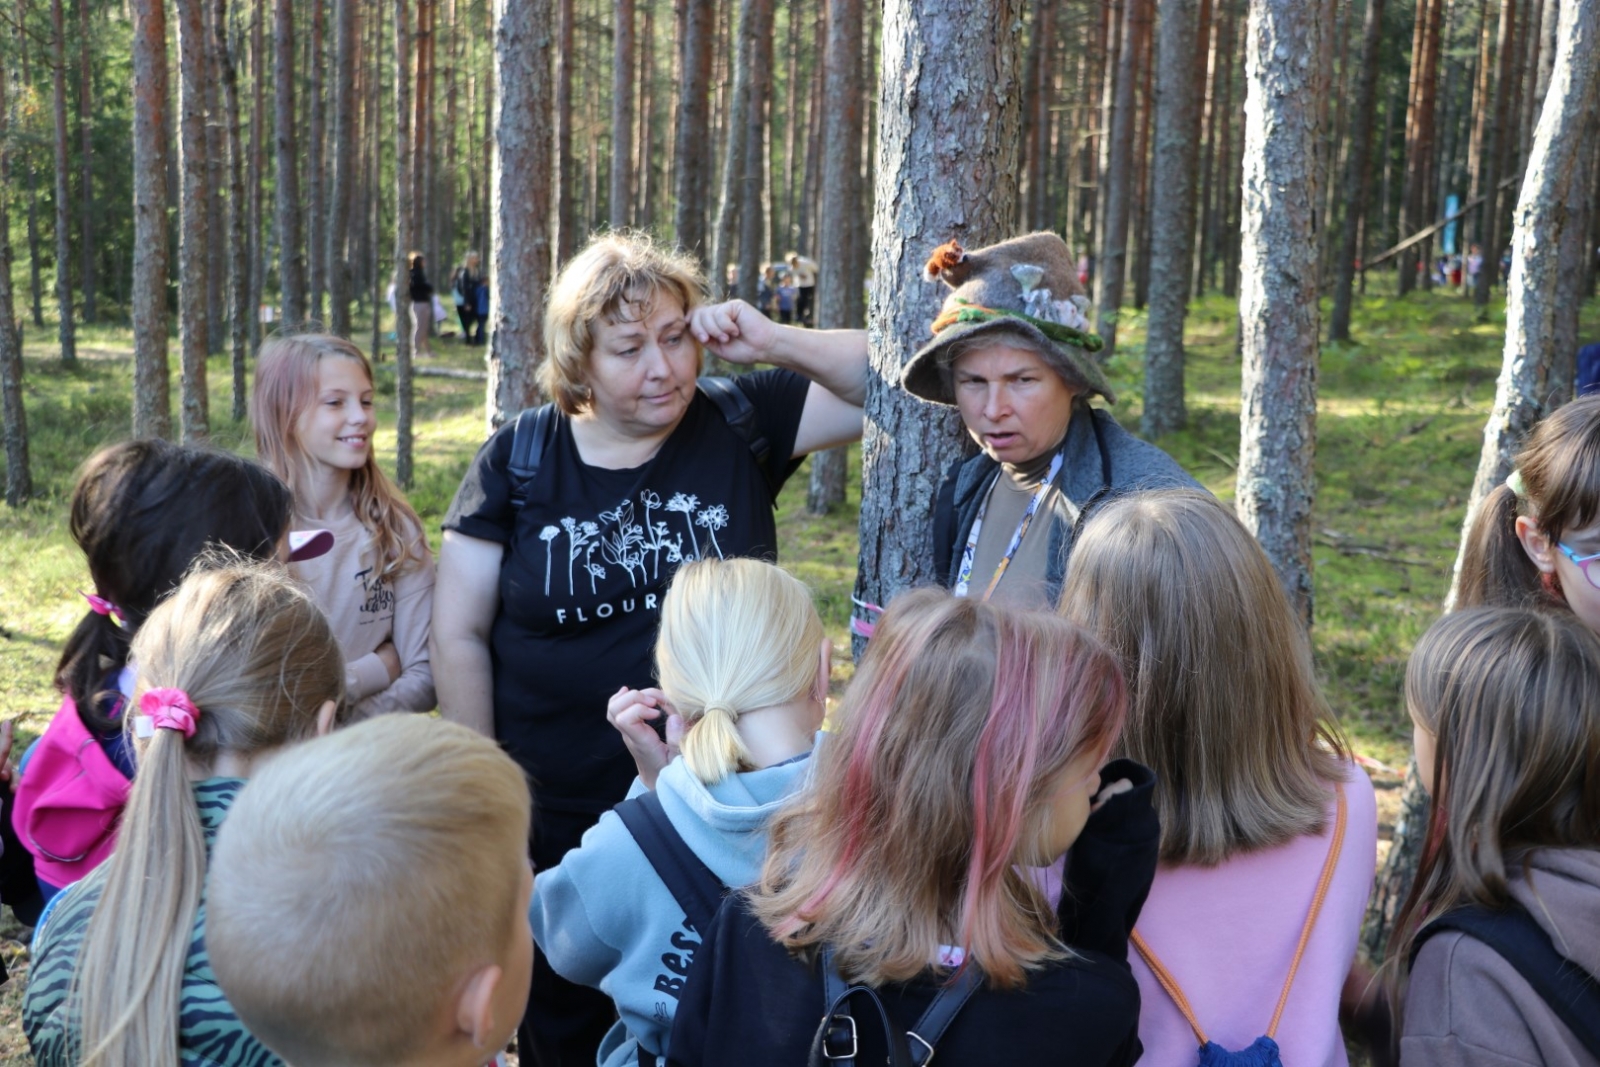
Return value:
<svg viewBox="0 0 1600 1067">
<path fill-rule="evenodd" d="M 355 360 L 366 381 L 373 381 L 366 354 L 328 333 L 269 338 L 261 342 L 256 357 L 256 392 L 250 397 L 256 454 L 283 478 L 296 501 L 302 499 L 307 464 L 296 427 L 306 410 L 317 403 L 317 366 L 330 358 Z M 350 506 L 373 537 L 370 561 L 379 577 L 394 577 L 427 560 L 422 520 L 378 466 L 371 442 L 366 462 L 350 472 Z"/>
</svg>

